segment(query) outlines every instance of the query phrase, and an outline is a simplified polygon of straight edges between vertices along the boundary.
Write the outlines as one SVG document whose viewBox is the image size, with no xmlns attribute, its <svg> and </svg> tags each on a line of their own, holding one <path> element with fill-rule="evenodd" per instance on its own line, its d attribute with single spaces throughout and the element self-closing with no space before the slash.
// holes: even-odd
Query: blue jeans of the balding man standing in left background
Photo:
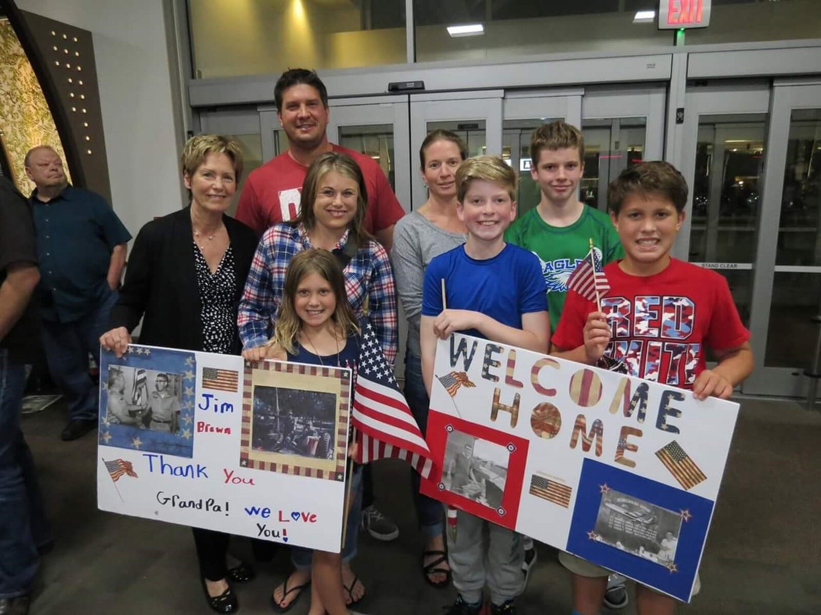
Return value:
<svg viewBox="0 0 821 615">
<path fill-rule="evenodd" d="M 99 307 L 78 321 L 43 321 L 48 371 L 66 396 L 72 419 L 87 421 L 98 416 L 99 391 L 89 376 L 88 357 L 91 353 L 99 361 L 99 338 L 108 330 L 108 315 L 117 297 L 117 291 L 112 291 Z"/>
</svg>

